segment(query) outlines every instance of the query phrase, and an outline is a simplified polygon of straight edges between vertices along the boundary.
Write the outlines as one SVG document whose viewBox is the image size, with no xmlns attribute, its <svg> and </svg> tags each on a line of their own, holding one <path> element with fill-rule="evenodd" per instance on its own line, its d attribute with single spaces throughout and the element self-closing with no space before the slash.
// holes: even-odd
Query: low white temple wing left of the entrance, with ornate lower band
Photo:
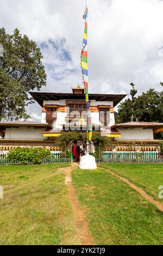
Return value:
<svg viewBox="0 0 163 256">
<path fill-rule="evenodd" d="M 32 121 L 1 121 L 0 152 L 7 153 L 15 147 L 47 147 L 51 151 L 59 151 L 53 140 L 43 137 L 46 129 L 52 129 L 52 126 Z"/>
</svg>

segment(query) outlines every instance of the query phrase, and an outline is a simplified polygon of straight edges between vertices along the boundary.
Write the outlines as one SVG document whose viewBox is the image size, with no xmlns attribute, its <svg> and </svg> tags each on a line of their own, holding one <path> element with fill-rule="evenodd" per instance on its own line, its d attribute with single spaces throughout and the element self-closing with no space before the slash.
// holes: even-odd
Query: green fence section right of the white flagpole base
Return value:
<svg viewBox="0 0 163 256">
<path fill-rule="evenodd" d="M 96 159 L 97 163 L 163 163 L 158 152 L 104 152 L 102 158 Z"/>
</svg>

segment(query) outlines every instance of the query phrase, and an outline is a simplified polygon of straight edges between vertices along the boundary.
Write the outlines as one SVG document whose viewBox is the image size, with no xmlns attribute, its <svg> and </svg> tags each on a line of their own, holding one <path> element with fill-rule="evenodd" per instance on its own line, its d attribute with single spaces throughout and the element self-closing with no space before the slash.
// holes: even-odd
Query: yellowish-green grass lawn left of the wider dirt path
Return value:
<svg viewBox="0 0 163 256">
<path fill-rule="evenodd" d="M 64 174 L 68 164 L 1 166 L 1 245 L 78 243 Z"/>
</svg>

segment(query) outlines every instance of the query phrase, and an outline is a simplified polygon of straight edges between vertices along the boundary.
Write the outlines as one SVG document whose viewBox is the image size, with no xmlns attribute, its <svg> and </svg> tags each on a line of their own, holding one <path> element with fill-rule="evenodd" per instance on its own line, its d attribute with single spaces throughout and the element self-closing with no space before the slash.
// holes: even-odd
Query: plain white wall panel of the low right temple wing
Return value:
<svg viewBox="0 0 163 256">
<path fill-rule="evenodd" d="M 122 137 L 116 138 L 116 141 L 123 140 L 146 140 L 153 139 L 153 130 L 152 129 L 143 129 L 141 127 L 134 128 L 116 128 L 119 132 L 121 132 Z"/>
</svg>

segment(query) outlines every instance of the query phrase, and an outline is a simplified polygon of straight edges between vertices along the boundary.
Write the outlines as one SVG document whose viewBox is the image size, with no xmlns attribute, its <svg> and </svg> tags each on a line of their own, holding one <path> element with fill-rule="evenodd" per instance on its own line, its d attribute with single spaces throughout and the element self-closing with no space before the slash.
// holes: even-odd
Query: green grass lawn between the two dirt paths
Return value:
<svg viewBox="0 0 163 256">
<path fill-rule="evenodd" d="M 72 175 L 97 245 L 163 244 L 163 212 L 126 183 L 101 169 Z"/>
</svg>

